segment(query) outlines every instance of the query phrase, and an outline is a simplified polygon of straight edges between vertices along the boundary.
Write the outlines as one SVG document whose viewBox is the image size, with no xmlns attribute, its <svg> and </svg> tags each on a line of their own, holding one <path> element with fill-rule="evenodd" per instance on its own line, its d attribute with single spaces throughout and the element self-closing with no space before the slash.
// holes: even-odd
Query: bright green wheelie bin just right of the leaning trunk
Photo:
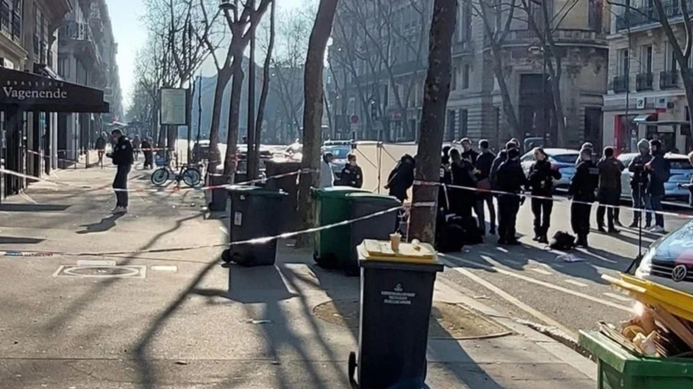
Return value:
<svg viewBox="0 0 693 389">
<path fill-rule="evenodd" d="M 339 221 L 348 220 L 351 214 L 347 194 L 354 192 L 369 192 L 365 189 L 351 186 L 330 186 L 313 189 L 315 199 L 315 217 L 317 226 L 326 226 Z M 325 269 L 336 269 L 340 258 L 351 255 L 349 246 L 349 229 L 351 226 L 339 226 L 318 231 L 313 244 L 313 259 Z"/>
</svg>

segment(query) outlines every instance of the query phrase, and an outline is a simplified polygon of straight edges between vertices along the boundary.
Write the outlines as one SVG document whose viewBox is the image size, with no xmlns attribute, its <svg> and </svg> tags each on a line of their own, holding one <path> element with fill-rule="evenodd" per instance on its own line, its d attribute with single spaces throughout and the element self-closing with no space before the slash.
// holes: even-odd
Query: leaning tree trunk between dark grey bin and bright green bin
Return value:
<svg viewBox="0 0 693 389">
<path fill-rule="evenodd" d="M 454 0 L 453 0 L 454 1 Z M 320 141 L 322 139 L 322 71 L 327 39 L 332 31 L 337 0 L 320 0 L 315 15 L 315 24 L 308 39 L 308 53 L 304 69 L 304 131 L 303 159 L 301 169 L 309 169 L 301 173 L 299 178 L 298 215 L 303 221 L 304 228 L 315 224 L 315 209 L 310 201 L 310 187 L 317 186 L 320 163 Z M 308 246 L 310 235 L 299 235 L 297 246 Z"/>
</svg>

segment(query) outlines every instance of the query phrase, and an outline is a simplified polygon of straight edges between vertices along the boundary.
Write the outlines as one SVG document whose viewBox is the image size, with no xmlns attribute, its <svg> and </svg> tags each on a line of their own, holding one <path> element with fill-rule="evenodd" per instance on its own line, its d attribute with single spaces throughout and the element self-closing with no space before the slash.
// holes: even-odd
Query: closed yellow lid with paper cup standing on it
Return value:
<svg viewBox="0 0 693 389">
<path fill-rule="evenodd" d="M 439 264 L 435 248 L 428 243 L 401 242 L 396 251 L 389 240 L 364 239 L 358 245 L 361 260 L 403 262 L 411 264 Z"/>
</svg>

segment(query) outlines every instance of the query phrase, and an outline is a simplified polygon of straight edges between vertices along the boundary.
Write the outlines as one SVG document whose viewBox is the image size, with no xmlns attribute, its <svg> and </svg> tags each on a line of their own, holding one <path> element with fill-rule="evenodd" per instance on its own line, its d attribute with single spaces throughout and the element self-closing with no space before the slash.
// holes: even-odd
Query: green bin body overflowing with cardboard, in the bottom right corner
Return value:
<svg viewBox="0 0 693 389">
<path fill-rule="evenodd" d="M 693 361 L 635 356 L 600 332 L 580 332 L 580 345 L 597 361 L 598 389 L 693 388 Z"/>
</svg>

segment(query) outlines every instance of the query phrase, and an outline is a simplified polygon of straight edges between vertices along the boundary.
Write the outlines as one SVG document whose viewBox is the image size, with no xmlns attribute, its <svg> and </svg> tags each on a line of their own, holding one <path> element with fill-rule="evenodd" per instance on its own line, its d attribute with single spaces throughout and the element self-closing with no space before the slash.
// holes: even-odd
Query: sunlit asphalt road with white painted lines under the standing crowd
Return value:
<svg viewBox="0 0 693 389">
<path fill-rule="evenodd" d="M 570 203 L 557 198 L 549 235 L 570 229 Z M 596 226 L 593 206 L 590 221 Z M 691 214 L 690 210 L 667 206 L 665 210 Z M 638 230 L 621 227 L 618 234 L 593 230 L 590 248 L 574 253 L 580 262 L 562 262 L 561 253 L 532 242 L 532 211 L 525 203 L 518 215 L 518 234 L 522 246 L 498 246 L 496 237 L 486 235 L 484 244 L 465 246 L 459 253 L 442 255 L 451 267 L 444 279 L 468 289 L 498 311 L 514 318 L 549 325 L 577 336 L 579 329 L 593 329 L 598 320 L 617 323 L 631 316 L 634 300 L 602 280 L 603 274 L 617 275 L 638 255 Z M 628 225 L 632 212 L 622 210 L 621 221 Z M 684 217 L 665 217 L 667 231 L 687 222 Z M 643 233 L 645 251 L 660 234 Z"/>
</svg>

